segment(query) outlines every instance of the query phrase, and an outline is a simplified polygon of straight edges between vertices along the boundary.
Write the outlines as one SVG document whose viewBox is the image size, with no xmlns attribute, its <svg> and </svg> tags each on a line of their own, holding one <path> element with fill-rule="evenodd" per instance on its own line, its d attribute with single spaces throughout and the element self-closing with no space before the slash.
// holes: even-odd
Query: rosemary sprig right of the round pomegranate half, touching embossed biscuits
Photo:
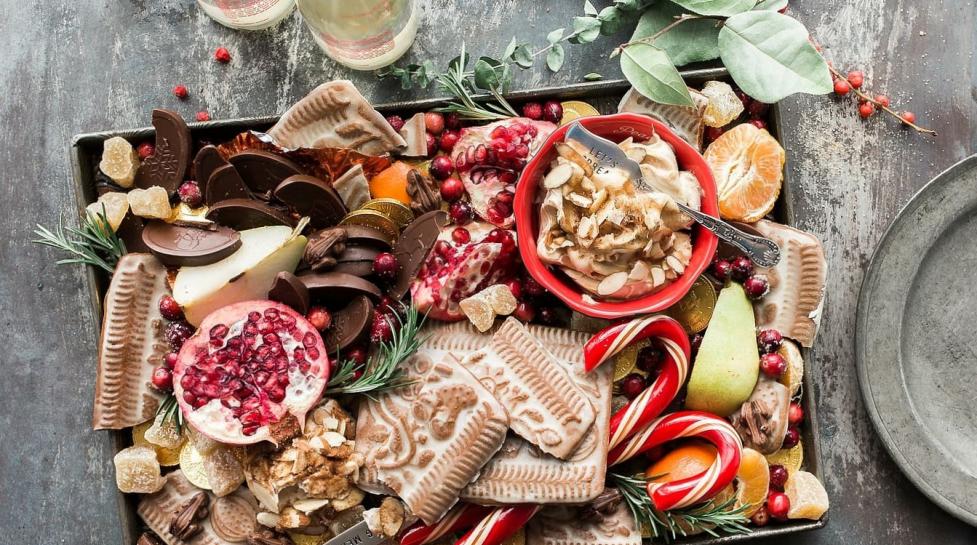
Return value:
<svg viewBox="0 0 977 545">
<path fill-rule="evenodd" d="M 354 378 L 357 363 L 346 360 L 339 364 L 336 374 L 329 379 L 330 394 L 364 394 L 373 397 L 375 394 L 407 386 L 411 381 L 406 380 L 400 369 L 400 362 L 417 352 L 422 339 L 418 337 L 424 319 L 420 318 L 413 305 L 404 305 L 404 317 L 396 314 L 399 322 L 394 328 L 393 338 L 389 342 L 380 343 L 377 351 L 366 364 L 366 369 L 359 378 Z"/>
</svg>

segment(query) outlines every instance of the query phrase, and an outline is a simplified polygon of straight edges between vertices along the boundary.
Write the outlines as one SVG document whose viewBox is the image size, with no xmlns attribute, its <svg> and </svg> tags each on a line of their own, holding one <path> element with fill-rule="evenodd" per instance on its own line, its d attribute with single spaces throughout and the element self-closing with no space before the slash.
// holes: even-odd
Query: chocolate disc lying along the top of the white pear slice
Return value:
<svg viewBox="0 0 977 545">
<path fill-rule="evenodd" d="M 241 236 L 234 229 L 198 229 L 162 221 L 147 222 L 142 240 L 167 267 L 209 265 L 241 246 Z"/>
</svg>

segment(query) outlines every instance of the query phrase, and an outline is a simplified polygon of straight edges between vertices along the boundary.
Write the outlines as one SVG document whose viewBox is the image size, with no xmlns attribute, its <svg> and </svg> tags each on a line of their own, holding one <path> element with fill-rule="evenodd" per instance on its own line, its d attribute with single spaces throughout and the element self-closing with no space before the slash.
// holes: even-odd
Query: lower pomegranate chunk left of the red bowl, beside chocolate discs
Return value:
<svg viewBox="0 0 977 545">
<path fill-rule="evenodd" d="M 441 230 L 410 288 L 419 312 L 446 322 L 465 318 L 459 306 L 462 299 L 506 282 L 517 270 L 515 233 L 473 222 L 465 226 L 464 240 L 456 239 L 456 229 L 449 224 Z"/>
</svg>

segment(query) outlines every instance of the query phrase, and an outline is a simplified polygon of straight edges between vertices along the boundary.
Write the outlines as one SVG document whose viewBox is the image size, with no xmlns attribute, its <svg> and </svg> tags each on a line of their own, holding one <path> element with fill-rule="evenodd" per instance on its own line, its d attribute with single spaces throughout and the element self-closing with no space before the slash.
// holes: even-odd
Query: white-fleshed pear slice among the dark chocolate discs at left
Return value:
<svg viewBox="0 0 977 545">
<path fill-rule="evenodd" d="M 201 267 L 181 267 L 173 298 L 187 321 L 198 325 L 211 312 L 231 303 L 267 299 L 275 276 L 295 272 L 307 239 L 283 225 L 241 231 L 241 247 L 226 258 Z"/>
</svg>

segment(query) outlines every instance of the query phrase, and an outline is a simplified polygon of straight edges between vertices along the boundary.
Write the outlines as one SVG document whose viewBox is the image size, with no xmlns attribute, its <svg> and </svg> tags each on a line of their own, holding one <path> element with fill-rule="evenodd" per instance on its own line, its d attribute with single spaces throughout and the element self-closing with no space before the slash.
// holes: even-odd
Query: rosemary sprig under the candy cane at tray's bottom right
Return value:
<svg viewBox="0 0 977 545">
<path fill-rule="evenodd" d="M 610 474 L 615 486 L 621 491 L 621 497 L 637 521 L 638 527 L 647 527 L 652 536 L 662 538 L 671 543 L 678 536 L 688 535 L 689 532 L 703 531 L 719 537 L 721 534 L 748 534 L 749 523 L 743 512 L 749 505 L 734 507 L 736 498 L 729 498 L 719 504 L 710 500 L 699 507 L 658 511 L 646 491 L 647 481 L 644 475 L 632 476 Z"/>
</svg>

